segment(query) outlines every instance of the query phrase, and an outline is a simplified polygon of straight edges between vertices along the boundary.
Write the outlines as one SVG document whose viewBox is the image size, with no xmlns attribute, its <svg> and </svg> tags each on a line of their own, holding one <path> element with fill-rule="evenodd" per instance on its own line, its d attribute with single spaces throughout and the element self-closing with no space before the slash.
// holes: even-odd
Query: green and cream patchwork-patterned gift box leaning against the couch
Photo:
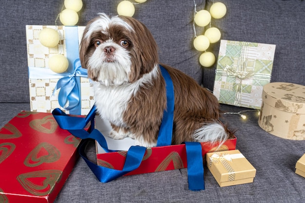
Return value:
<svg viewBox="0 0 305 203">
<path fill-rule="evenodd" d="M 219 103 L 260 109 L 275 45 L 221 40 L 213 93 Z"/>
</svg>

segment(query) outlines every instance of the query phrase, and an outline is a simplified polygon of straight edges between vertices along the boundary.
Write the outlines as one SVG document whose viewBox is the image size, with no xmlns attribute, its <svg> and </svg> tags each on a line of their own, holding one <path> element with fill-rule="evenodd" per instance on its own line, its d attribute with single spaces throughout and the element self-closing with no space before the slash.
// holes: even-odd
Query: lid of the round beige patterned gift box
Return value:
<svg viewBox="0 0 305 203">
<path fill-rule="evenodd" d="M 305 114 L 305 86 L 273 82 L 264 86 L 264 103 L 281 111 Z"/>
</svg>

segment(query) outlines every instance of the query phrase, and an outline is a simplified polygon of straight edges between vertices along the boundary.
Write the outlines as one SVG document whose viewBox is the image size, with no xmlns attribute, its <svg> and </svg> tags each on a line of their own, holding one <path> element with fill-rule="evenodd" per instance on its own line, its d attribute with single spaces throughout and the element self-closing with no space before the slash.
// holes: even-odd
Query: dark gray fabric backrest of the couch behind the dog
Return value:
<svg viewBox="0 0 305 203">
<path fill-rule="evenodd" d="M 97 13 L 117 15 L 121 0 L 83 0 L 77 25 L 85 25 Z M 133 0 L 131 0 L 133 1 Z M 212 19 L 222 39 L 276 44 L 271 82 L 305 85 L 305 1 L 303 0 L 195 0 L 197 11 L 213 2 L 227 6 L 227 14 Z M 3 1 L 0 7 L 0 103 L 29 102 L 25 25 L 54 25 L 63 0 Z M 135 4 L 134 18 L 155 37 L 160 62 L 169 64 L 213 89 L 216 64 L 203 68 L 200 52 L 192 47 L 194 0 L 147 0 Z M 58 25 L 60 22 L 58 21 Z M 203 29 L 196 26 L 197 35 Z M 216 57 L 219 42 L 209 51 Z"/>
</svg>

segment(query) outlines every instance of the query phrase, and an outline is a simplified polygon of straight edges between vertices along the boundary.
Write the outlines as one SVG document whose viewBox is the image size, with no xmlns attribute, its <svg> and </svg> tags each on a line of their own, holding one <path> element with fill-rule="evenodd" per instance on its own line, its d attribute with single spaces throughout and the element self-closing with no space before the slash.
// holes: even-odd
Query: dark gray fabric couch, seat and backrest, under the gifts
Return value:
<svg viewBox="0 0 305 203">
<path fill-rule="evenodd" d="M 77 25 L 85 25 L 98 12 L 116 15 L 121 0 L 83 0 Z M 218 0 L 215 0 L 218 1 Z M 305 2 L 300 0 L 219 0 L 226 4 L 227 15 L 213 20 L 222 39 L 276 44 L 271 82 L 305 85 Z M 2 1 L 0 7 L 0 127 L 21 110 L 30 110 L 25 25 L 54 25 L 62 0 Z M 213 0 L 196 0 L 197 11 L 209 9 Z M 159 45 L 160 61 L 184 71 L 213 90 L 215 65 L 203 68 L 200 53 L 192 47 L 193 0 L 147 0 L 135 5 L 134 18 L 152 31 Z M 60 23 L 59 23 L 60 24 Z M 197 34 L 203 29 L 196 27 Z M 210 47 L 216 56 L 219 42 Z M 227 112 L 247 110 L 221 105 Z M 257 112 L 246 112 L 223 119 L 237 129 L 236 148 L 257 169 L 251 184 L 219 187 L 207 167 L 206 189 L 188 189 L 187 169 L 122 177 L 99 183 L 79 159 L 57 196 L 56 203 L 303 203 L 305 178 L 294 173 L 297 160 L 305 153 L 305 141 L 273 136 L 258 124 Z M 95 156 L 94 144 L 89 154 Z M 0 182 L 0 185 L 3 184 Z M 1 187 L 1 186 L 0 186 Z"/>
</svg>

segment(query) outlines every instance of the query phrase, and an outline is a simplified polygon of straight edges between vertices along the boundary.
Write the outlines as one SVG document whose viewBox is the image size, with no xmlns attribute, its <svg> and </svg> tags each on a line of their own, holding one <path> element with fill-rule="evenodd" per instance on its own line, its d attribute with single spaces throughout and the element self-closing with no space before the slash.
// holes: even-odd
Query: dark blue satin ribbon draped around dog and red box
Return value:
<svg viewBox="0 0 305 203">
<path fill-rule="evenodd" d="M 173 108 L 174 108 L 174 92 L 171 76 L 166 69 L 160 66 L 162 75 L 166 81 L 167 87 L 167 110 L 164 111 L 162 124 L 159 129 L 157 146 L 168 146 L 172 143 L 172 125 L 173 125 Z M 67 129 L 71 134 L 81 139 L 94 139 L 106 151 L 111 152 L 107 147 L 107 142 L 100 131 L 94 128 L 95 126 L 95 106 L 91 109 L 88 115 L 84 117 L 69 116 L 60 109 L 55 109 L 52 114 L 56 119 L 58 125 L 62 129 Z M 90 128 L 86 131 L 84 128 L 91 121 Z M 98 166 L 91 162 L 85 153 L 86 142 L 83 142 L 78 148 L 79 154 L 85 160 L 87 165 L 91 168 L 96 178 L 102 182 L 107 183 L 117 179 L 134 169 L 138 168 L 144 157 L 146 148 L 140 146 L 132 146 L 129 148 L 126 160 L 122 170 L 116 170 L 104 166 Z M 188 162 L 188 177 L 189 188 L 191 190 L 204 189 L 203 180 L 203 163 L 201 155 L 200 143 L 186 143 L 187 162 Z"/>
</svg>

